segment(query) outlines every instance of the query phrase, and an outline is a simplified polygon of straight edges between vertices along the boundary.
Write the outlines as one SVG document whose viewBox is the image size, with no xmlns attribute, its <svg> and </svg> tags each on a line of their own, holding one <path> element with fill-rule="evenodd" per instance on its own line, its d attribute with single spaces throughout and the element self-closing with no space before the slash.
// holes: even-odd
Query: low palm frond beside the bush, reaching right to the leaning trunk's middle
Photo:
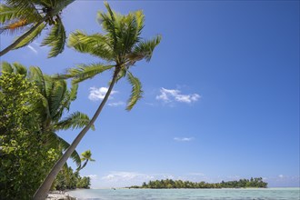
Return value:
<svg viewBox="0 0 300 200">
<path fill-rule="evenodd" d="M 65 117 L 55 125 L 55 130 L 67 130 L 69 128 L 82 128 L 90 122 L 90 118 L 80 112 L 75 112 L 72 115 Z M 91 129 L 94 131 L 95 126 L 92 125 Z"/>
</svg>

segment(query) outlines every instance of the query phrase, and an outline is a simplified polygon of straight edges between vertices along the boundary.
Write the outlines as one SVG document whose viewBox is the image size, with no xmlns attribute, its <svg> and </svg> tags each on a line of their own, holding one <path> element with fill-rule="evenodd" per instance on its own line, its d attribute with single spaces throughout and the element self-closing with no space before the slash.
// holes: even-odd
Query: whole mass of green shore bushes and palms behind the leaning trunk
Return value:
<svg viewBox="0 0 300 200">
<path fill-rule="evenodd" d="M 76 88 L 68 90 L 65 81 L 50 79 L 38 67 L 31 67 L 27 72 L 23 65 L 2 63 L 1 74 L 0 196 L 1 199 L 31 199 L 68 146 L 55 131 L 85 125 L 89 119 L 80 113 L 62 119 L 75 99 Z M 84 155 L 83 160 L 90 159 Z M 79 169 L 84 167 L 76 152 L 72 158 Z M 72 173 L 67 175 L 62 170 L 60 174 L 53 188 L 68 188 L 64 183 L 74 188 L 67 181 Z M 75 177 L 75 186 L 90 185 L 88 177 L 81 178 L 78 173 Z"/>
</svg>

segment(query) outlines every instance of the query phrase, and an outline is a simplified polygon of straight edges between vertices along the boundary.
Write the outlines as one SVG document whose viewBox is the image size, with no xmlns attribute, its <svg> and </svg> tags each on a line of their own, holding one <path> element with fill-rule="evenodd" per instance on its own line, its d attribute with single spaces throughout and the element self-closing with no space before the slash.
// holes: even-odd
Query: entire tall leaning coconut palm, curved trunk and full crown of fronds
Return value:
<svg viewBox="0 0 300 200">
<path fill-rule="evenodd" d="M 145 15 L 142 11 L 120 15 L 112 11 L 107 3 L 105 3 L 105 6 L 108 11 L 107 14 L 103 12 L 97 14 L 98 22 L 102 25 L 105 34 L 86 35 L 81 31 L 76 31 L 69 36 L 68 45 L 78 52 L 95 55 L 105 60 L 108 64 L 79 65 L 76 68 L 69 69 L 67 74 L 60 75 L 60 78 L 73 78 L 73 84 L 77 84 L 93 78 L 106 70 L 114 70 L 112 80 L 103 101 L 95 111 L 95 115 L 90 123 L 76 136 L 74 142 L 65 151 L 65 154 L 57 161 L 52 171 L 45 178 L 44 183 L 36 191 L 35 200 L 45 198 L 55 176 L 85 136 L 90 126 L 94 125 L 115 83 L 120 78 L 126 76 L 130 85 L 132 85 L 131 95 L 126 106 L 128 111 L 142 97 L 141 82 L 129 70 L 137 61 L 142 59 L 150 61 L 155 46 L 160 43 L 161 37 L 155 36 L 151 40 L 143 40 L 140 37 L 145 22 Z"/>
</svg>

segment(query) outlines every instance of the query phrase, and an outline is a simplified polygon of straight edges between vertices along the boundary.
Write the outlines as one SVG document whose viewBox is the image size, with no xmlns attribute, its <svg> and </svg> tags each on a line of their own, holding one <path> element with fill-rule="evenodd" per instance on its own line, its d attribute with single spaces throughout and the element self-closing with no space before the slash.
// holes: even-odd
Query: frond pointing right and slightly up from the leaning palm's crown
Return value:
<svg viewBox="0 0 300 200">
<path fill-rule="evenodd" d="M 161 36 L 158 35 L 152 40 L 142 41 L 135 45 L 133 53 L 128 55 L 131 61 L 139 61 L 145 59 L 147 62 L 150 61 L 155 46 L 161 41 Z"/>
</svg>

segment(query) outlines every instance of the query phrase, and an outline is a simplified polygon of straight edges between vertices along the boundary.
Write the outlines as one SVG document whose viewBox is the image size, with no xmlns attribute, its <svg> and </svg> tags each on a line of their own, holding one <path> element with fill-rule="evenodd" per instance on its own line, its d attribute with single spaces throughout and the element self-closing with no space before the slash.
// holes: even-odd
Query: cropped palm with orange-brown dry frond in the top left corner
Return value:
<svg viewBox="0 0 300 200">
<path fill-rule="evenodd" d="M 0 4 L 0 34 L 23 31 L 11 45 L 0 51 L 0 56 L 33 42 L 47 26 L 52 26 L 41 45 L 51 46 L 48 57 L 64 51 L 65 27 L 61 12 L 75 0 L 5 0 Z"/>
</svg>

